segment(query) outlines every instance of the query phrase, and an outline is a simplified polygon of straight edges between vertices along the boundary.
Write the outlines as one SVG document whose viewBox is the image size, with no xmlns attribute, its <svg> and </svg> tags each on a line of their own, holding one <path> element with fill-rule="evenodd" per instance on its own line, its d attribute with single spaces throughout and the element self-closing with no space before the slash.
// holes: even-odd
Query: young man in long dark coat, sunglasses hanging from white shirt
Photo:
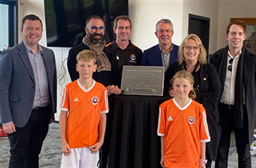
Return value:
<svg viewBox="0 0 256 168">
<path fill-rule="evenodd" d="M 252 167 L 256 100 L 256 55 L 243 45 L 246 23 L 231 21 L 226 30 L 228 46 L 211 56 L 222 85 L 219 101 L 221 139 L 215 167 L 228 167 L 231 131 L 235 132 L 238 167 Z"/>
</svg>

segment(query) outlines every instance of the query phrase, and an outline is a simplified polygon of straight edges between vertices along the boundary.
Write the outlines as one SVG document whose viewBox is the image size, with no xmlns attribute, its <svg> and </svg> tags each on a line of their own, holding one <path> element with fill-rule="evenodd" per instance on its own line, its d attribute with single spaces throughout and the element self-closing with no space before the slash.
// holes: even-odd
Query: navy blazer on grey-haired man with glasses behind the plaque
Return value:
<svg viewBox="0 0 256 168">
<path fill-rule="evenodd" d="M 177 46 L 173 43 L 172 43 L 172 46 L 173 46 L 173 48 L 172 48 L 169 65 L 171 65 L 171 63 L 178 60 L 179 46 Z M 157 44 L 149 49 L 146 49 L 143 52 L 140 65 L 163 66 L 163 61 L 162 61 L 159 44 Z"/>
</svg>

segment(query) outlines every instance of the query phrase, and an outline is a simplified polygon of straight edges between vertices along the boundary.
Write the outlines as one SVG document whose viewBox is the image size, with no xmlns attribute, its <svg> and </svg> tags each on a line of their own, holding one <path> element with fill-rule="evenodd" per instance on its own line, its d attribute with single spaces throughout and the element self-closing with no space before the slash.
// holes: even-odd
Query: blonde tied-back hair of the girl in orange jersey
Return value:
<svg viewBox="0 0 256 168">
<path fill-rule="evenodd" d="M 174 76 L 171 79 L 171 85 L 172 86 L 173 86 L 174 80 L 178 79 L 178 78 L 187 79 L 192 86 L 194 85 L 193 75 L 190 72 L 186 71 L 186 70 L 181 70 L 181 71 L 178 71 L 174 74 Z M 188 94 L 188 97 L 191 98 L 191 99 L 196 98 L 196 92 L 195 92 L 194 88 L 192 90 L 190 90 L 190 92 Z"/>
</svg>

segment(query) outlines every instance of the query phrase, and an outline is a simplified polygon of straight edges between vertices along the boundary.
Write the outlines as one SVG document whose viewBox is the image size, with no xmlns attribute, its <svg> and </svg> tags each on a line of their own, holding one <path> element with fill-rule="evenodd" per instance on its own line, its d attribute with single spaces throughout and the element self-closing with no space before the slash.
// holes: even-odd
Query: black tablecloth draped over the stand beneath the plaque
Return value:
<svg viewBox="0 0 256 168">
<path fill-rule="evenodd" d="M 169 96 L 110 96 L 108 167 L 161 167 L 159 105 Z M 110 127 L 110 128 L 109 128 Z"/>
</svg>

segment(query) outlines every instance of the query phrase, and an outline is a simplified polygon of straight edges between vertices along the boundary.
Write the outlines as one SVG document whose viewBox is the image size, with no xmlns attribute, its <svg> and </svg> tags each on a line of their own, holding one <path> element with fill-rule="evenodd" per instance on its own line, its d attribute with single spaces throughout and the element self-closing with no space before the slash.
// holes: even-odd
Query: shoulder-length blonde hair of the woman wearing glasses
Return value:
<svg viewBox="0 0 256 168">
<path fill-rule="evenodd" d="M 185 39 L 183 39 L 183 41 L 180 45 L 180 48 L 179 48 L 179 58 L 178 58 L 179 65 L 183 64 L 183 62 L 185 61 L 185 57 L 183 55 L 183 48 L 186 46 L 189 39 L 195 40 L 197 46 L 200 49 L 200 53 L 197 58 L 199 63 L 206 64 L 207 63 L 207 59 L 206 59 L 207 52 L 206 52 L 206 49 L 204 48 L 204 45 L 203 45 L 201 39 L 196 34 L 189 34 Z"/>
</svg>

